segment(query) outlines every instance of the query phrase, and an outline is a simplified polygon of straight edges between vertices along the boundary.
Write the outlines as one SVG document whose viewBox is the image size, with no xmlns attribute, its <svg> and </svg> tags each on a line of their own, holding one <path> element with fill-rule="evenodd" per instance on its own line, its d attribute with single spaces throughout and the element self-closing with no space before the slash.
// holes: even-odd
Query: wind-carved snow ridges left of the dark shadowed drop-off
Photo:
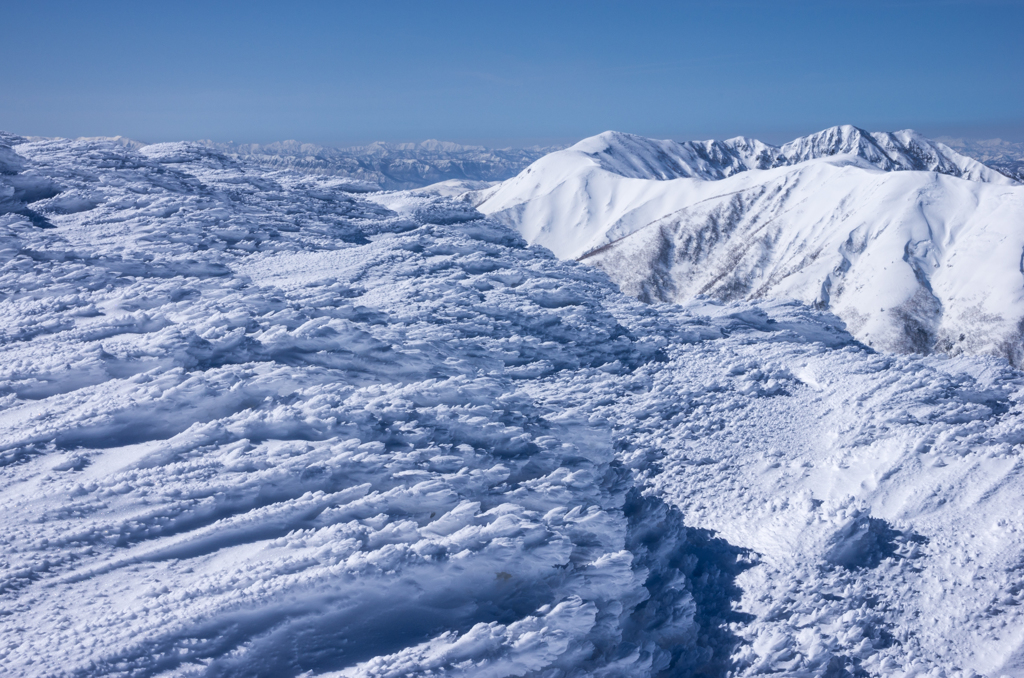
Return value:
<svg viewBox="0 0 1024 678">
<path fill-rule="evenodd" d="M 197 144 L 18 149 L 91 209 L 5 217 L 9 671 L 714 655 L 678 513 L 636 497 L 602 419 L 519 386 L 655 356 L 602 276 L 460 205 L 399 213 Z M 676 565 L 633 543 L 651 515 Z"/>
</svg>

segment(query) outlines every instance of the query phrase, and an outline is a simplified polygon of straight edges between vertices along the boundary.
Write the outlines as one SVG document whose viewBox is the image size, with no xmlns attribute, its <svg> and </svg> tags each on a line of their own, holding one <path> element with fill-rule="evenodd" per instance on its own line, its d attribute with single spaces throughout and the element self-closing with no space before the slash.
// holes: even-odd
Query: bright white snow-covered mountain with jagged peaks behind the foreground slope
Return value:
<svg viewBox="0 0 1024 678">
<path fill-rule="evenodd" d="M 886 350 L 1024 361 L 1024 186 L 910 131 L 606 132 L 474 200 L 645 301 L 795 298 Z"/>
</svg>

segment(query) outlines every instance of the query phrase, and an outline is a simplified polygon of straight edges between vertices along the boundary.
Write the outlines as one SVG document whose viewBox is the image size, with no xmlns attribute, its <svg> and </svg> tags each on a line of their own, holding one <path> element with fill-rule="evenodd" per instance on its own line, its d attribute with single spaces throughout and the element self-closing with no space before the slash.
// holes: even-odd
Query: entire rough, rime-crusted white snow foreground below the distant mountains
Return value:
<svg viewBox="0 0 1024 678">
<path fill-rule="evenodd" d="M 0 674 L 1024 674 L 1006 361 L 645 305 L 444 192 L 4 138 Z"/>
</svg>

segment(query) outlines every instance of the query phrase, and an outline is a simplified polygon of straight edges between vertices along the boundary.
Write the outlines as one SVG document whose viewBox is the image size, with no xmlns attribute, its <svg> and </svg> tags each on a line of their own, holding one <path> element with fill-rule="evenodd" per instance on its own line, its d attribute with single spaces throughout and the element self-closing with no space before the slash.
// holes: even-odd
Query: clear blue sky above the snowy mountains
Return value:
<svg viewBox="0 0 1024 678">
<path fill-rule="evenodd" d="M 158 141 L 1024 140 L 1024 2 L 4 0 L 0 129 Z"/>
</svg>

